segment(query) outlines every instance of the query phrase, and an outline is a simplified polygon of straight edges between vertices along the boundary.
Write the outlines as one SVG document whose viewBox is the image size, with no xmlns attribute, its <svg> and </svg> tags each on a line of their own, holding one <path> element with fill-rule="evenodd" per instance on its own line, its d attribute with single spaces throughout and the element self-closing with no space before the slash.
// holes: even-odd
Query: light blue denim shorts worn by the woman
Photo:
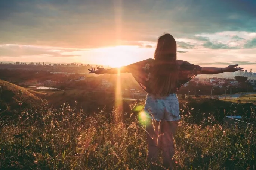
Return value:
<svg viewBox="0 0 256 170">
<path fill-rule="evenodd" d="M 181 119 L 179 115 L 179 100 L 176 93 L 160 99 L 148 94 L 144 112 L 148 118 L 156 121 L 178 121 Z"/>
</svg>

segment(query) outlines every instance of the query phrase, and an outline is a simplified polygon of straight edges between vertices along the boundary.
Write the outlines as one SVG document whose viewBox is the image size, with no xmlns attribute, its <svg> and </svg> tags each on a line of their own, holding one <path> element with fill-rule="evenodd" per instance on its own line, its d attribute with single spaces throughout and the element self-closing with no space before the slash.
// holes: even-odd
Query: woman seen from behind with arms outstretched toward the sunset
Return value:
<svg viewBox="0 0 256 170">
<path fill-rule="evenodd" d="M 170 34 L 164 34 L 158 38 L 154 59 L 150 58 L 121 68 L 88 69 L 89 73 L 95 74 L 132 73 L 142 89 L 148 92 L 144 112 L 151 120 L 146 124 L 148 162 L 152 163 L 151 167 L 157 161 L 161 148 L 164 166 L 172 168 L 172 158 L 175 154 L 173 135 L 177 122 L 181 119 L 177 90 L 198 74 L 243 71 L 243 68 L 237 67 L 238 65 L 229 65 L 225 68 L 200 67 L 177 60 L 176 56 L 175 39 Z"/>
</svg>

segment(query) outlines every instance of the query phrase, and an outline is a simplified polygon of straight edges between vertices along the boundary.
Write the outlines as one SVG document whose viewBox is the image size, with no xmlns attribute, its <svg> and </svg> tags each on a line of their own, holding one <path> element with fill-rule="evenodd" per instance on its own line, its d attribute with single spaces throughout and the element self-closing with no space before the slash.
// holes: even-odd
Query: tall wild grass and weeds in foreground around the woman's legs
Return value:
<svg viewBox="0 0 256 170">
<path fill-rule="evenodd" d="M 0 120 L 0 169 L 148 169 L 143 114 L 121 120 L 117 110 L 86 115 L 64 103 L 60 109 L 22 108 L 16 120 Z M 137 112 L 142 103 L 131 106 Z M 256 129 L 227 128 L 212 114 L 191 123 L 183 106 L 175 135 L 175 169 L 256 169 Z M 255 120 L 252 110 L 251 119 Z M 161 159 L 157 167 L 162 169 Z"/>
</svg>

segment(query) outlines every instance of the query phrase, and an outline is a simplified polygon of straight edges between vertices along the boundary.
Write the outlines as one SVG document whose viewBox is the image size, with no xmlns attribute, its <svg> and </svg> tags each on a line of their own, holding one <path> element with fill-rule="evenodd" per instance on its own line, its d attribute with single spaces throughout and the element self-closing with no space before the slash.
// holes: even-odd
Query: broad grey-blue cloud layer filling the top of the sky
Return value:
<svg viewBox="0 0 256 170">
<path fill-rule="evenodd" d="M 256 32 L 254 0 L 0 1 L 0 44 L 69 48 L 222 31 Z M 199 37 L 200 38 L 200 37 Z M 206 40 L 201 40 L 206 41 Z"/>
</svg>

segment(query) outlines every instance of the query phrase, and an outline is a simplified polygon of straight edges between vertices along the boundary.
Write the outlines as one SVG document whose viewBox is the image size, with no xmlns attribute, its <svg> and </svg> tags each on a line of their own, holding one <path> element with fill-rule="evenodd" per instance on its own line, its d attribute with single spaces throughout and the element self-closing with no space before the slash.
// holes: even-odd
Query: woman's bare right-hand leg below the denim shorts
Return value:
<svg viewBox="0 0 256 170">
<path fill-rule="evenodd" d="M 174 134 L 178 121 L 163 121 L 161 135 L 161 146 L 163 149 L 163 165 L 166 168 L 173 168 L 172 158 L 175 154 Z"/>
</svg>

